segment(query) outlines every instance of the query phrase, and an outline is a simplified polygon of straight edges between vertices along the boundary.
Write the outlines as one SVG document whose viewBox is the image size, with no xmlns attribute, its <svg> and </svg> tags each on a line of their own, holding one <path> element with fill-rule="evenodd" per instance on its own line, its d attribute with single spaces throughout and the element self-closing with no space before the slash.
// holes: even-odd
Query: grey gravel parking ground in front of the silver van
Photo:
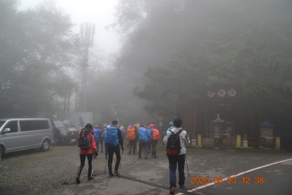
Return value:
<svg viewBox="0 0 292 195">
<path fill-rule="evenodd" d="M 105 153 L 98 153 L 95 171 L 104 171 Z M 131 163 L 134 156 L 123 155 L 123 164 Z M 135 158 L 136 159 L 136 158 Z M 114 158 L 115 161 L 115 158 Z M 76 183 L 80 165 L 79 148 L 71 143 L 51 145 L 49 151 L 29 149 L 7 153 L 1 161 L 0 195 L 44 194 L 53 189 Z M 87 160 L 81 181 L 87 180 Z"/>
</svg>

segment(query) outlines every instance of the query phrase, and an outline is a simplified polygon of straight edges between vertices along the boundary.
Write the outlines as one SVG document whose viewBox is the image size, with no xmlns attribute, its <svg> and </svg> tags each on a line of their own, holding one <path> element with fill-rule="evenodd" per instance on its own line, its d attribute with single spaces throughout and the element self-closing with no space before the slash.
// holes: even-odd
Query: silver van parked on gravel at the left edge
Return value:
<svg viewBox="0 0 292 195">
<path fill-rule="evenodd" d="M 1 155 L 38 148 L 48 151 L 54 144 L 53 126 L 45 118 L 0 119 Z"/>
</svg>

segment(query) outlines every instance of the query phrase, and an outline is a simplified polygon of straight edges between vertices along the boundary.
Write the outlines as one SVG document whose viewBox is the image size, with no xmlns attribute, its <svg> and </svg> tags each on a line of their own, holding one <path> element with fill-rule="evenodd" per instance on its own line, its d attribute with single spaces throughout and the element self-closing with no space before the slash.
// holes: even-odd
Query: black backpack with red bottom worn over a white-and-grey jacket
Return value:
<svg viewBox="0 0 292 195">
<path fill-rule="evenodd" d="M 171 130 L 169 130 L 171 131 Z M 175 155 L 180 153 L 180 136 L 179 134 L 183 129 L 179 130 L 177 133 L 171 131 L 170 136 L 167 139 L 166 144 L 166 154 Z"/>
</svg>

